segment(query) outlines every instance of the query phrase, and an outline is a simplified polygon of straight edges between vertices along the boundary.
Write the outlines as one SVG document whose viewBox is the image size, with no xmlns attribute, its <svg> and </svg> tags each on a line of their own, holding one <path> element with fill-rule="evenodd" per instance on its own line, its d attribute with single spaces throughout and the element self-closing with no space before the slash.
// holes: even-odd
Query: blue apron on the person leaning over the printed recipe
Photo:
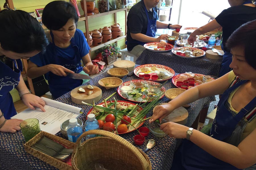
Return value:
<svg viewBox="0 0 256 170">
<path fill-rule="evenodd" d="M 16 60 L 17 63 L 15 60 L 13 62 L 14 70 L 0 61 L 0 109 L 6 119 L 17 114 L 13 98 L 9 92 L 20 82 L 20 70 L 18 68 L 22 69 L 22 62 L 20 59 Z"/>
</svg>

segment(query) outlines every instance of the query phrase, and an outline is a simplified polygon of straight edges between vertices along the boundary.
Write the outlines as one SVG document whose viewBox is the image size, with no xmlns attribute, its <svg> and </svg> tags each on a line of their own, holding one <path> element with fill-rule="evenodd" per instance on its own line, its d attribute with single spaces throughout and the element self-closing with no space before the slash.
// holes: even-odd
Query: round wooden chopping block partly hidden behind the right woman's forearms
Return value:
<svg viewBox="0 0 256 170">
<path fill-rule="evenodd" d="M 165 103 L 161 103 L 161 104 L 165 104 Z M 154 109 L 153 109 L 153 112 L 154 112 Z M 164 120 L 168 122 L 175 122 L 181 125 L 185 125 L 187 123 L 187 117 L 188 117 L 187 109 L 185 109 L 184 107 L 179 107 L 175 109 L 171 114 L 166 116 Z"/>
</svg>

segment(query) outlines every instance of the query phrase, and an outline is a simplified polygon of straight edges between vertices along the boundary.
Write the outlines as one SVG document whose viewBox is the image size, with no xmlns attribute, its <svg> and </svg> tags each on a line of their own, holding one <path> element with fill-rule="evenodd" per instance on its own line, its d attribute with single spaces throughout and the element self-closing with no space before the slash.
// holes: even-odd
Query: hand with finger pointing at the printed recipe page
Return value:
<svg viewBox="0 0 256 170">
<path fill-rule="evenodd" d="M 45 101 L 42 100 L 40 97 L 33 94 L 24 94 L 22 95 L 21 99 L 28 108 L 35 110 L 35 106 L 40 108 L 43 112 L 45 112 Z"/>
</svg>

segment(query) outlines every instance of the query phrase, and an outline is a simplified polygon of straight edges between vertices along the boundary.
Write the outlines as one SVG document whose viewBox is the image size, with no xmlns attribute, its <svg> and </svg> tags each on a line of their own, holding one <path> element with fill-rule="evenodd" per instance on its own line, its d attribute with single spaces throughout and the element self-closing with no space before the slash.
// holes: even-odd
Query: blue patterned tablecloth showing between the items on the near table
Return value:
<svg viewBox="0 0 256 170">
<path fill-rule="evenodd" d="M 138 65 L 136 65 L 138 66 Z M 177 73 L 176 73 L 177 75 Z M 84 85 L 94 85 L 98 86 L 102 89 L 102 100 L 103 98 L 106 98 L 116 92 L 117 88 L 112 88 L 109 90 L 106 90 L 105 88 L 99 86 L 98 80 L 108 77 L 109 75 L 104 72 L 101 75 L 98 75 L 97 77 L 93 78 L 90 82 L 87 82 Z M 130 81 L 134 78 L 137 78 L 135 75 L 131 77 L 125 76 L 122 78 L 123 82 Z M 172 84 L 171 80 L 169 80 L 164 87 L 167 89 L 175 88 L 175 86 Z M 115 99 L 117 100 L 124 100 L 121 98 L 118 94 L 113 95 Z M 111 99 L 113 99 L 113 97 Z M 86 121 L 86 114 L 91 109 L 91 107 L 86 105 L 77 105 L 71 101 L 70 92 L 67 94 L 59 97 L 56 99 L 57 101 L 67 103 L 69 105 L 81 107 L 84 109 L 83 114 L 79 117 L 80 120 L 84 123 Z M 188 110 L 189 116 L 187 120 L 187 126 L 190 127 L 192 123 L 194 122 L 195 118 L 199 114 L 199 111 L 202 109 L 204 104 L 210 103 L 211 101 L 215 100 L 214 97 L 207 97 L 203 99 L 199 99 L 193 103 L 191 103 L 191 107 Z M 169 102 L 170 100 L 166 97 L 163 97 L 161 99 L 161 103 Z M 101 102 L 101 101 L 100 101 Z M 96 104 L 100 103 L 97 102 Z M 150 111 L 147 114 L 147 117 L 152 115 L 152 111 Z M 143 126 L 148 126 L 148 120 L 143 124 Z M 83 129 L 84 131 L 84 129 Z M 133 137 L 137 135 L 137 131 L 133 131 L 130 133 L 122 134 L 120 135 L 133 145 Z M 57 136 L 65 138 L 60 132 L 56 134 Z M 25 139 L 21 133 L 21 131 L 18 131 L 17 133 L 0 133 L 0 139 L 1 139 L 1 145 L 0 145 L 0 169 L 10 169 L 10 170 L 16 170 L 16 169 L 24 169 L 24 170 L 34 170 L 34 169 L 57 169 L 38 158 L 26 153 L 24 150 L 23 144 L 25 143 Z M 67 139 L 67 138 L 65 138 Z M 174 151 L 176 150 L 177 146 L 180 144 L 180 139 L 171 138 L 169 136 L 163 137 L 163 138 L 157 138 L 152 133 L 149 133 L 147 137 L 145 137 L 145 141 L 148 139 L 155 139 L 156 140 L 156 146 L 154 148 L 148 150 L 146 154 L 148 155 L 150 162 L 152 164 L 153 170 L 169 170 L 172 165 L 172 159 Z M 144 145 L 135 145 L 138 148 L 143 149 Z"/>
</svg>

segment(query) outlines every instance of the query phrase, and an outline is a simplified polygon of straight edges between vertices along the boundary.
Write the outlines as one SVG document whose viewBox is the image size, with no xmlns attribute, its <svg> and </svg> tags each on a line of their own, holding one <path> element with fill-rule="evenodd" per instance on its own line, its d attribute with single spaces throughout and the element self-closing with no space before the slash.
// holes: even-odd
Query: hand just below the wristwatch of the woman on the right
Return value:
<svg viewBox="0 0 256 170">
<path fill-rule="evenodd" d="M 177 124 L 174 122 L 167 122 L 160 126 L 160 129 L 164 131 L 168 136 L 175 138 L 186 138 L 187 137 L 187 126 Z"/>
</svg>

